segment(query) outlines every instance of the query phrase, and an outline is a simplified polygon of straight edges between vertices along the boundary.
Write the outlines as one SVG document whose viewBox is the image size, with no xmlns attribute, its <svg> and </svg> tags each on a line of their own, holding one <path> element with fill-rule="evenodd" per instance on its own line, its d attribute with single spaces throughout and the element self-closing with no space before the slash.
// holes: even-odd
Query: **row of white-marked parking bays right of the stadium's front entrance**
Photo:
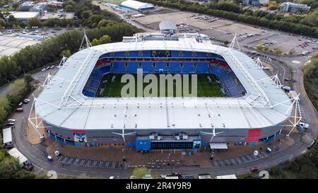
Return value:
<svg viewBox="0 0 318 193">
<path fill-rule="evenodd" d="M 225 165 L 237 165 L 242 163 L 249 163 L 254 160 L 259 160 L 261 158 L 266 158 L 270 156 L 269 153 L 266 153 L 265 151 L 259 151 L 259 155 L 254 156 L 254 154 L 247 154 L 245 156 L 240 156 L 237 158 L 228 158 L 224 160 L 213 160 L 210 162 L 211 167 L 222 167 Z"/>
</svg>

